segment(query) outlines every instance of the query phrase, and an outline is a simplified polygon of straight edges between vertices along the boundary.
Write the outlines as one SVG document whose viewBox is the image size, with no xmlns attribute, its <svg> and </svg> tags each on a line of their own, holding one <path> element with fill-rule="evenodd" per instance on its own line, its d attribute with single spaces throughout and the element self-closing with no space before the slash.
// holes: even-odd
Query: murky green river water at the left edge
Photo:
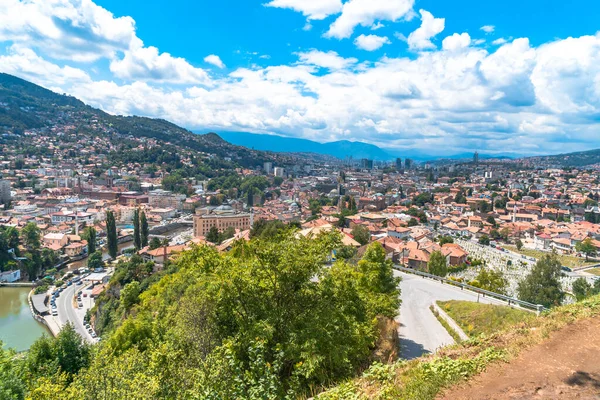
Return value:
<svg viewBox="0 0 600 400">
<path fill-rule="evenodd" d="M 4 347 L 24 351 L 44 333 L 46 327 L 33 319 L 27 296 L 30 288 L 0 287 L 0 341 Z"/>
</svg>

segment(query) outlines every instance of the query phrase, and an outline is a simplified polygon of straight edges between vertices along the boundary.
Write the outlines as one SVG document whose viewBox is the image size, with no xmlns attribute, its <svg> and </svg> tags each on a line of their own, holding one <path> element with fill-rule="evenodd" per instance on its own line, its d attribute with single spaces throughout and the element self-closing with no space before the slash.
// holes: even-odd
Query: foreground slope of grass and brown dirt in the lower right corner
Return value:
<svg viewBox="0 0 600 400">
<path fill-rule="evenodd" d="M 591 398 L 585 395 L 597 393 L 600 387 L 600 346 L 591 336 L 600 328 L 598 315 L 600 296 L 591 297 L 432 356 L 389 366 L 375 364 L 362 378 L 316 399 L 425 400 L 437 398 L 444 390 L 447 399 L 508 399 L 508 394 L 513 394 L 510 398 Z M 557 368 L 561 362 L 565 366 Z M 513 368 L 521 372 L 520 378 L 511 372 Z M 552 379 L 546 379 L 545 372 Z M 471 379 L 472 389 L 455 387 Z M 512 393 L 505 391 L 508 386 Z M 559 391 L 563 394 L 556 395 Z"/>
</svg>

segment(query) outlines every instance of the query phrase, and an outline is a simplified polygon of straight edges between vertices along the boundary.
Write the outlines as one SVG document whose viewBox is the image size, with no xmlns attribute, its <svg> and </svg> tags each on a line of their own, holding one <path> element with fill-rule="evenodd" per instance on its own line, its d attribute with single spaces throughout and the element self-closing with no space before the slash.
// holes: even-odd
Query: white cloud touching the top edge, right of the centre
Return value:
<svg viewBox="0 0 600 400">
<path fill-rule="evenodd" d="M 349 0 L 329 27 L 325 37 L 347 39 L 358 25 L 372 26 L 375 21 L 397 21 L 413 16 L 414 0 Z"/>
</svg>

